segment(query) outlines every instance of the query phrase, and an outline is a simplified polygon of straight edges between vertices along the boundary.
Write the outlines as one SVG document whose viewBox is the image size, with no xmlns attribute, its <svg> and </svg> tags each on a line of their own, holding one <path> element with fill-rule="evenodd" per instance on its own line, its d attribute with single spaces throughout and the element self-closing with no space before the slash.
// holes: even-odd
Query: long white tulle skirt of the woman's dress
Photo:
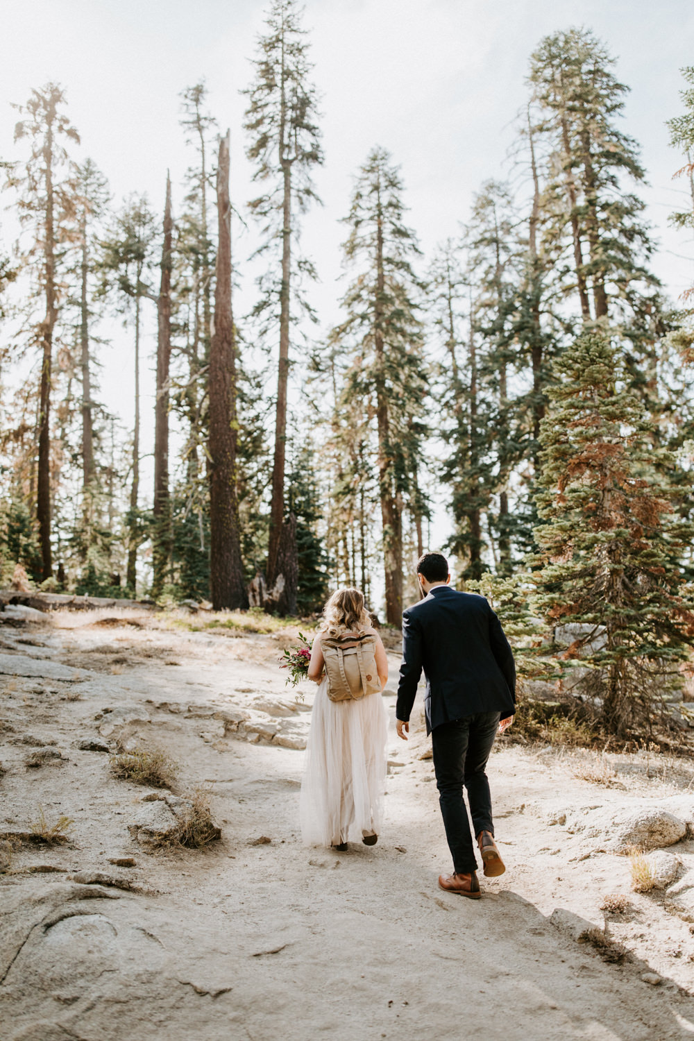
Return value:
<svg viewBox="0 0 694 1041">
<path fill-rule="evenodd" d="M 319 685 L 306 748 L 300 816 L 306 845 L 361 842 L 381 830 L 388 718 L 381 694 L 331 702 Z"/>
</svg>

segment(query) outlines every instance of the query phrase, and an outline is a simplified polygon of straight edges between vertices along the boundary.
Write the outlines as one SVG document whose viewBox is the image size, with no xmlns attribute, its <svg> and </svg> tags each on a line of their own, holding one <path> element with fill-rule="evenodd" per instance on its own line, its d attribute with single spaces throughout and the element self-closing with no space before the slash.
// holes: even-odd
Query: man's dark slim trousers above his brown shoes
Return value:
<svg viewBox="0 0 694 1041">
<path fill-rule="evenodd" d="M 467 789 L 474 835 L 482 831 L 494 834 L 491 793 L 485 767 L 496 736 L 499 715 L 499 712 L 478 712 L 477 715 L 441 723 L 432 731 L 436 787 L 456 874 L 467 874 L 478 868 L 463 801 L 463 786 Z"/>
</svg>

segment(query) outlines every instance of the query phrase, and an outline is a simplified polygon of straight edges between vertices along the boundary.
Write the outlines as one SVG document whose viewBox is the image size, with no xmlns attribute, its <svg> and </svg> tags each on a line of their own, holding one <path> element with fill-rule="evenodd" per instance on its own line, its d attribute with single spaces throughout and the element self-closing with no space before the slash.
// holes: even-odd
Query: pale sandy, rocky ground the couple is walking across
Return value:
<svg viewBox="0 0 694 1041">
<path fill-rule="evenodd" d="M 451 864 L 430 742 L 420 712 L 408 744 L 394 733 L 395 651 L 379 842 L 306 848 L 312 689 L 297 702 L 278 667 L 297 631 L 201 618 L 0 613 L 5 1041 L 694 1035 L 690 761 L 500 739 L 489 773 L 508 869 L 466 900 L 437 887 Z M 221 839 L 148 852 L 173 812 L 159 797 L 176 799 L 115 778 L 117 743 L 164 750 L 179 794 L 210 793 Z M 676 880 L 635 893 L 605 821 L 668 807 L 691 824 L 669 846 Z M 68 841 L 31 838 L 60 816 Z M 609 894 L 621 911 L 600 910 Z"/>
</svg>

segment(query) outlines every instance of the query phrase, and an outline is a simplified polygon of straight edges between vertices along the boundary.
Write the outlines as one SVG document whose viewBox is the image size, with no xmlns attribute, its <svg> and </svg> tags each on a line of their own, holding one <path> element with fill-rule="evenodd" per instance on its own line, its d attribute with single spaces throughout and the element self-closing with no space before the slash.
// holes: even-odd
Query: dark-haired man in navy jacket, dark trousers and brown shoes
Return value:
<svg viewBox="0 0 694 1041">
<path fill-rule="evenodd" d="M 425 553 L 417 561 L 417 580 L 423 599 L 403 612 L 397 736 L 407 741 L 423 668 L 427 733 L 432 735 L 439 805 L 454 865 L 452 875 L 439 875 L 439 886 L 479 899 L 478 865 L 463 786 L 484 873 L 503 874 L 506 867 L 494 843 L 485 767 L 496 733 L 504 733 L 513 721 L 513 652 L 484 596 L 451 588 L 444 556 Z"/>
</svg>

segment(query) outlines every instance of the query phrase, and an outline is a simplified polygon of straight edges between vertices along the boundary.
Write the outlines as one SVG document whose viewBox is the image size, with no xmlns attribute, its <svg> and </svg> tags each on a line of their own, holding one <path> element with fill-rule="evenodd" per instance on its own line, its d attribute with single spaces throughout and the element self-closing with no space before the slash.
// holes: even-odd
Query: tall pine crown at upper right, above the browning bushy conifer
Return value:
<svg viewBox="0 0 694 1041">
<path fill-rule="evenodd" d="M 658 280 L 647 266 L 653 247 L 644 203 L 622 183 L 624 177 L 643 182 L 645 175 L 636 142 L 617 122 L 627 87 L 614 64 L 586 29 L 545 36 L 531 58 L 534 130 L 550 151 L 545 205 L 554 210 L 555 233 L 570 229 L 565 289 L 577 293 L 584 322 L 623 323 L 643 354 L 651 345 L 639 320 L 659 306 Z"/>
</svg>

